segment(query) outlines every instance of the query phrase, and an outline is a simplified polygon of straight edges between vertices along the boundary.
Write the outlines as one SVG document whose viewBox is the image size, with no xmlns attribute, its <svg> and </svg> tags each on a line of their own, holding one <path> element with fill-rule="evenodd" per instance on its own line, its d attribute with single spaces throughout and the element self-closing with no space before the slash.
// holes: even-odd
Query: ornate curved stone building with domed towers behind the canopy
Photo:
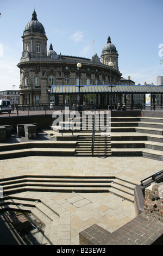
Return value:
<svg viewBox="0 0 163 256">
<path fill-rule="evenodd" d="M 52 44 L 47 51 L 47 35 L 43 25 L 37 20 L 35 11 L 32 20 L 24 29 L 23 52 L 20 63 L 20 103 L 70 103 L 77 102 L 77 95 L 51 95 L 52 85 L 78 85 L 79 71 L 77 63 L 82 64 L 80 68 L 80 84 L 82 85 L 105 85 L 120 84 L 121 73 L 118 69 L 118 53 L 110 36 L 104 45 L 101 60 L 95 54 L 91 59 L 73 57 L 57 54 Z M 111 69 L 109 62 L 114 63 Z M 107 95 L 105 95 L 107 97 Z M 101 95 L 97 95 L 97 102 L 106 101 Z"/>
</svg>

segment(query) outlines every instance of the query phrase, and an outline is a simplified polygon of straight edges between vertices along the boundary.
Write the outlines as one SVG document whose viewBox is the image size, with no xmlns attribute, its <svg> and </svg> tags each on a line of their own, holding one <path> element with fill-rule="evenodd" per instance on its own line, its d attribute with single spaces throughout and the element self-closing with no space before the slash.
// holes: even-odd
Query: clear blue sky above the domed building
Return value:
<svg viewBox="0 0 163 256">
<path fill-rule="evenodd" d="M 95 50 L 101 57 L 110 35 L 122 77 L 156 84 L 156 76 L 163 76 L 162 8 L 162 0 L 0 0 L 0 90 L 19 89 L 21 36 L 34 9 L 47 50 L 52 42 L 58 54 L 91 58 Z"/>
</svg>

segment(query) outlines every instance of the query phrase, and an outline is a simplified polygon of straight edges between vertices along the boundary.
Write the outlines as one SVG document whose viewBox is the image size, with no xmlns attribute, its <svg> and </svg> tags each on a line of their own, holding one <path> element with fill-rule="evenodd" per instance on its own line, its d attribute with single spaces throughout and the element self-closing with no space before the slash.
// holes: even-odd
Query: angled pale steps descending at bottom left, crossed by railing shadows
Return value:
<svg viewBox="0 0 163 256">
<path fill-rule="evenodd" d="M 48 197 L 26 198 L 21 194 L 5 197 L 0 200 L 0 212 L 7 210 L 32 213 L 45 226 L 42 245 L 70 244 L 70 213 Z"/>
</svg>

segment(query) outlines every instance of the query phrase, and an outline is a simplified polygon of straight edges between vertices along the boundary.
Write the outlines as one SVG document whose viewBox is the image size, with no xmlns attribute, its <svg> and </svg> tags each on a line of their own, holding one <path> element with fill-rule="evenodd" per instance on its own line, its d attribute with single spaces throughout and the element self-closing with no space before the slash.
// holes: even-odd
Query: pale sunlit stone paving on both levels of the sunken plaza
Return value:
<svg viewBox="0 0 163 256">
<path fill-rule="evenodd" d="M 145 157 L 29 156 L 0 161 L 0 178 L 32 175 L 115 175 L 136 185 L 162 170 L 162 162 Z M 61 206 L 70 220 L 60 225 L 61 245 L 79 245 L 79 232 L 98 224 L 112 231 L 136 216 L 134 203 L 111 193 L 22 192 L 21 197 L 46 197 Z M 70 228 L 70 234 L 66 232 Z"/>
</svg>

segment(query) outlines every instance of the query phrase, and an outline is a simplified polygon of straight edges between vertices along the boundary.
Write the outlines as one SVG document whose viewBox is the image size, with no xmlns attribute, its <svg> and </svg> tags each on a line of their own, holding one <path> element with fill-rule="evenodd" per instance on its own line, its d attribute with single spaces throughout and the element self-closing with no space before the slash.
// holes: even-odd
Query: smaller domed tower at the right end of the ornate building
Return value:
<svg viewBox="0 0 163 256">
<path fill-rule="evenodd" d="M 108 65 L 109 62 L 113 62 L 114 69 L 118 71 L 118 52 L 115 45 L 111 43 L 110 36 L 108 37 L 107 44 L 103 47 L 101 60 L 105 65 Z"/>
</svg>

